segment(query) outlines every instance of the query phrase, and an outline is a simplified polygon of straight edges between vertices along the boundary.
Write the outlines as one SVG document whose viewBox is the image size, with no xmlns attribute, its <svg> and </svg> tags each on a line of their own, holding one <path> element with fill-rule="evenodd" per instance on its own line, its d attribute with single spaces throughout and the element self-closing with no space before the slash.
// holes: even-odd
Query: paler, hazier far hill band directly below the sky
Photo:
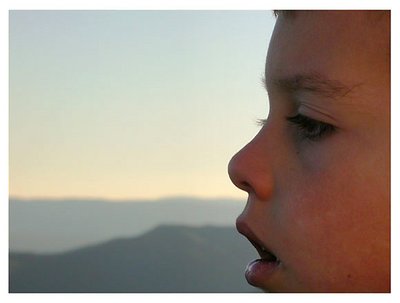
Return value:
<svg viewBox="0 0 400 303">
<path fill-rule="evenodd" d="M 154 201 L 10 198 L 10 251 L 55 253 L 143 234 L 161 224 L 231 226 L 245 202 L 169 198 Z"/>
</svg>

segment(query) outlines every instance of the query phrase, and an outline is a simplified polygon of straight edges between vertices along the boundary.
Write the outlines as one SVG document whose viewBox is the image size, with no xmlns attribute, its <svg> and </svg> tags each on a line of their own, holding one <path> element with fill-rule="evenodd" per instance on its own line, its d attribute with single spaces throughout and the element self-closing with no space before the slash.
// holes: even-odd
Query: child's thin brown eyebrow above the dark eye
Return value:
<svg viewBox="0 0 400 303">
<path fill-rule="evenodd" d="M 263 84 L 267 88 L 266 78 Z M 278 78 L 272 81 L 280 90 L 295 94 L 301 91 L 310 92 L 321 97 L 338 99 L 346 97 L 354 88 L 361 85 L 346 85 L 339 80 L 328 79 L 318 73 L 297 74 L 286 78 Z"/>
</svg>

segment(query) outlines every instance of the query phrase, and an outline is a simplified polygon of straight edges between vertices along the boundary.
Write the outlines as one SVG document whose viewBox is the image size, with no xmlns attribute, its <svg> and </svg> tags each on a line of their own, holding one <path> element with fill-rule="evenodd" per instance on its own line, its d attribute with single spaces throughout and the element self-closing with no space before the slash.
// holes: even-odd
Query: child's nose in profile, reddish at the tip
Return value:
<svg viewBox="0 0 400 303">
<path fill-rule="evenodd" d="M 261 132 L 232 157 L 228 173 L 232 183 L 258 199 L 269 199 L 273 191 L 272 153 Z"/>
</svg>

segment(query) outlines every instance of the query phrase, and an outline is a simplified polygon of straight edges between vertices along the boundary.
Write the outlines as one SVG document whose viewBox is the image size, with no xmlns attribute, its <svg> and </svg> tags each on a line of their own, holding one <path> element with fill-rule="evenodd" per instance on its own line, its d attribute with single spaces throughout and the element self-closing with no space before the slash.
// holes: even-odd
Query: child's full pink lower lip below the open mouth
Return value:
<svg viewBox="0 0 400 303">
<path fill-rule="evenodd" d="M 279 264 L 279 262 L 268 262 L 261 259 L 250 262 L 245 273 L 247 282 L 253 286 L 260 286 L 277 271 Z"/>
</svg>

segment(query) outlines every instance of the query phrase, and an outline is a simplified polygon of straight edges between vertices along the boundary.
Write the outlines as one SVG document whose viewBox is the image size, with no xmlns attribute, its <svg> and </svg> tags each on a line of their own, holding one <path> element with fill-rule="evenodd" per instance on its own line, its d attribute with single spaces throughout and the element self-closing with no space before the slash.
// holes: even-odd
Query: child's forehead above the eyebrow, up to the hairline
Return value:
<svg viewBox="0 0 400 303">
<path fill-rule="evenodd" d="M 377 67 L 385 69 L 390 28 L 375 15 L 365 11 L 280 15 L 268 50 L 267 81 L 270 77 L 317 73 L 359 83 L 371 69 L 375 74 Z M 382 72 L 388 74 L 388 70 Z"/>
</svg>

